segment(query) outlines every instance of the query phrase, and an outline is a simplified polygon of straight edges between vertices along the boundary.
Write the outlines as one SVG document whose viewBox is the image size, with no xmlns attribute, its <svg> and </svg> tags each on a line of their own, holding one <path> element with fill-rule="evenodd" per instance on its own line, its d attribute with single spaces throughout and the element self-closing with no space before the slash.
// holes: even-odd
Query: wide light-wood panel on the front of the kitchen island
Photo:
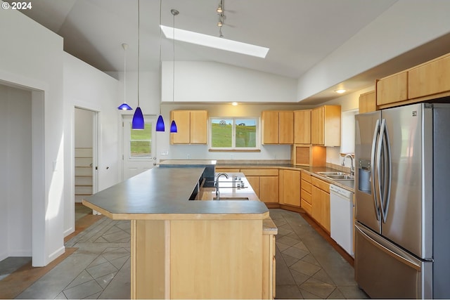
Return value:
<svg viewBox="0 0 450 300">
<path fill-rule="evenodd" d="M 170 231 L 173 299 L 262 298 L 262 220 L 180 220 Z"/>
</svg>

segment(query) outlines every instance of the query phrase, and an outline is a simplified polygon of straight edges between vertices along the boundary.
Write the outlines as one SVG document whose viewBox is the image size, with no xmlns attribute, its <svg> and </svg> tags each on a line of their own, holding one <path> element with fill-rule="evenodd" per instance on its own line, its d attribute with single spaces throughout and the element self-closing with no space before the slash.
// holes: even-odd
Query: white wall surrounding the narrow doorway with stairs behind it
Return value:
<svg viewBox="0 0 450 300">
<path fill-rule="evenodd" d="M 63 53 L 65 105 L 65 209 L 64 235 L 75 230 L 74 172 L 75 107 L 98 112 L 98 185 L 96 191 L 109 188 L 120 181 L 122 174 L 120 145 L 120 83 L 110 75 Z M 95 190 L 94 190 L 95 192 Z"/>
</svg>

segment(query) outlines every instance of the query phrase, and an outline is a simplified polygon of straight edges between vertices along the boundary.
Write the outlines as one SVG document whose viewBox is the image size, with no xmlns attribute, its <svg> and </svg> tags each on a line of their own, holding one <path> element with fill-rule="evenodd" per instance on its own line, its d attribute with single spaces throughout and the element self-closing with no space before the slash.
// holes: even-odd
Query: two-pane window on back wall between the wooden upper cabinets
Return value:
<svg viewBox="0 0 450 300">
<path fill-rule="evenodd" d="M 212 117 L 210 121 L 210 145 L 212 149 L 258 149 L 257 118 Z"/>
</svg>

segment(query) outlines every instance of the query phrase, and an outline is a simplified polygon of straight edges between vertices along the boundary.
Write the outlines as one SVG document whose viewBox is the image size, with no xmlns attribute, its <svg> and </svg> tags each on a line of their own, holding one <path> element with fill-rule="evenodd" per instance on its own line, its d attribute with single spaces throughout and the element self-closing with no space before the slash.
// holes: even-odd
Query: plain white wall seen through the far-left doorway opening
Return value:
<svg viewBox="0 0 450 300">
<path fill-rule="evenodd" d="M 0 261 L 32 254 L 30 91 L 0 85 Z"/>
</svg>

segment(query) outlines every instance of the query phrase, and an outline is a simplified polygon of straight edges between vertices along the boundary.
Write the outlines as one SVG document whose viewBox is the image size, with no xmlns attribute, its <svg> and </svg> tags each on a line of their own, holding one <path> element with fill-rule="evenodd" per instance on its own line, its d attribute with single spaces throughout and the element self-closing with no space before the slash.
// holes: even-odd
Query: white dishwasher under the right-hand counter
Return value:
<svg viewBox="0 0 450 300">
<path fill-rule="evenodd" d="M 348 254 L 353 254 L 353 192 L 330 184 L 330 235 Z"/>
</svg>

